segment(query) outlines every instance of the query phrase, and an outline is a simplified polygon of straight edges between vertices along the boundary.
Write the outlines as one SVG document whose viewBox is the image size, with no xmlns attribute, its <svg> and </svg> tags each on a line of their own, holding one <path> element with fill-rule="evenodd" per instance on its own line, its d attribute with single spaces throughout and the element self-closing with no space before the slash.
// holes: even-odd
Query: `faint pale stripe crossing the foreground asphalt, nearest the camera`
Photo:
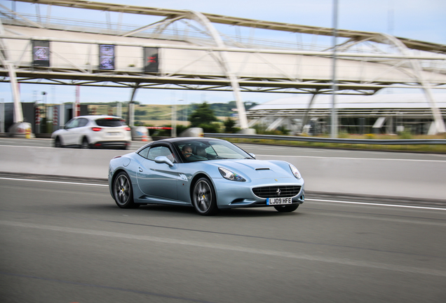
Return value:
<svg viewBox="0 0 446 303">
<path fill-rule="evenodd" d="M 304 255 L 297 253 L 290 253 L 278 250 L 264 250 L 258 248 L 248 248 L 237 245 L 225 245 L 219 243 L 209 243 L 209 242 L 198 242 L 198 241 L 188 241 L 188 240 L 180 240 L 174 238 L 160 238 L 156 236 L 141 236 L 134 234 L 122 234 L 110 231 L 98 231 L 95 229 L 79 229 L 72 227 L 58 227 L 58 226 L 50 226 L 43 224 L 32 224 L 32 223 L 22 223 L 22 222 L 12 222 L 12 221 L 4 221 L 0 220 L 1 225 L 9 226 L 9 227 L 24 227 L 30 229 L 43 229 L 49 231 L 60 231 L 67 232 L 73 234 L 85 234 L 88 236 L 106 236 L 113 238 L 125 238 L 129 240 L 137 240 L 137 241 L 149 241 L 156 243 L 165 243 L 165 244 L 173 244 L 173 245 L 187 245 L 194 246 L 198 248 L 210 248 L 215 250 L 229 250 L 235 251 L 238 253 L 248 253 L 248 254 L 256 254 L 256 255 L 267 255 L 272 257 L 286 257 L 297 260 L 307 260 L 313 262 L 327 262 L 341 265 L 349 265 L 355 267 L 367 267 L 370 269 L 382 269 L 386 271 L 399 271 L 410 274 L 424 274 L 431 276 L 441 276 L 446 277 L 446 271 L 438 270 L 438 269 L 426 269 L 421 267 L 409 267 L 405 265 L 397 265 L 397 264 L 384 264 L 379 262 L 369 262 L 362 260 L 350 260 L 348 258 L 336 258 L 336 257 L 319 257 L 316 255 Z"/>
</svg>

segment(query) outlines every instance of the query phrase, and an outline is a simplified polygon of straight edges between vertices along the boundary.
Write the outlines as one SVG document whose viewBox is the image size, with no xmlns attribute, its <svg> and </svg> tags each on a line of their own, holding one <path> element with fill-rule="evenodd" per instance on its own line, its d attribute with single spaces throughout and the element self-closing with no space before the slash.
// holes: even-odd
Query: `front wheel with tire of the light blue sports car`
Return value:
<svg viewBox="0 0 446 303">
<path fill-rule="evenodd" d="M 214 187 L 208 178 L 201 177 L 194 184 L 192 204 L 200 215 L 215 215 L 218 213 L 217 197 L 215 196 Z"/>
</svg>

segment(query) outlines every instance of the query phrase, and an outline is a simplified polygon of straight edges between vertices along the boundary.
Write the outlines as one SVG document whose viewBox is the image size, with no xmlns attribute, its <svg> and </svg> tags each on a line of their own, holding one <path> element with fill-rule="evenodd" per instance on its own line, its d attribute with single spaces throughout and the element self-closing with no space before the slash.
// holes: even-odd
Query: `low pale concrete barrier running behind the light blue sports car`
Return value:
<svg viewBox="0 0 446 303">
<path fill-rule="evenodd" d="M 128 151 L 0 146 L 0 172 L 107 178 L 109 161 Z M 398 198 L 446 197 L 446 161 L 259 156 L 299 168 L 307 191 Z"/>
</svg>

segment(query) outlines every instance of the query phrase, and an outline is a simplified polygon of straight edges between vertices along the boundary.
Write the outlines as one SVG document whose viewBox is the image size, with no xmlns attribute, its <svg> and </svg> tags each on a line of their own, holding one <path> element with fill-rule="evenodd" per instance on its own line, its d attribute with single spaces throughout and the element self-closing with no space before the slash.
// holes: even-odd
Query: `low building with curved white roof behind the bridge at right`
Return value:
<svg viewBox="0 0 446 303">
<path fill-rule="evenodd" d="M 287 128 L 292 135 L 328 133 L 331 116 L 330 95 L 297 95 L 264 102 L 248 110 L 250 127 L 266 130 Z M 446 94 L 435 94 L 442 119 L 446 119 Z M 409 132 L 433 133 L 431 107 L 422 94 L 338 95 L 339 132 L 351 134 Z"/>
</svg>

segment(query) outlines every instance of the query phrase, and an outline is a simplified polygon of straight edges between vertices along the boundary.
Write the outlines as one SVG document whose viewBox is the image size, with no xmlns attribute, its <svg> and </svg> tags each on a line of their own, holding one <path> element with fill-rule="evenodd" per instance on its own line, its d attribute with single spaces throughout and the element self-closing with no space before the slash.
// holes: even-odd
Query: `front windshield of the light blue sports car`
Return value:
<svg viewBox="0 0 446 303">
<path fill-rule="evenodd" d="M 236 145 L 215 139 L 191 139 L 175 142 L 184 162 L 219 160 L 219 159 L 253 159 L 250 154 Z"/>
</svg>

